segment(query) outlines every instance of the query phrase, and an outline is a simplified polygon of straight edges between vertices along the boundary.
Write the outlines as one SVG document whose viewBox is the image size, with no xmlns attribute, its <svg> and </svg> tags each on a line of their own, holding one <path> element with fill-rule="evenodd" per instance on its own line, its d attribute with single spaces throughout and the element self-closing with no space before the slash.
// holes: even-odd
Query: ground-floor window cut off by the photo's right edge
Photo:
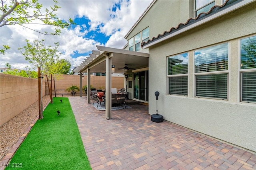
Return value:
<svg viewBox="0 0 256 170">
<path fill-rule="evenodd" d="M 256 103 L 256 35 L 240 40 L 240 102 Z"/>
</svg>

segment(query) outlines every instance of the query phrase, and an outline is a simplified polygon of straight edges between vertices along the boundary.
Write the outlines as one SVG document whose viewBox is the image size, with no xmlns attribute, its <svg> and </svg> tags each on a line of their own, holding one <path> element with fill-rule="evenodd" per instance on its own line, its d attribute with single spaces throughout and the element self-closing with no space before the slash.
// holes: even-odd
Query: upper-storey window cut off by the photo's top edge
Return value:
<svg viewBox="0 0 256 170">
<path fill-rule="evenodd" d="M 195 16 L 208 12 L 215 5 L 215 0 L 195 0 Z"/>
</svg>

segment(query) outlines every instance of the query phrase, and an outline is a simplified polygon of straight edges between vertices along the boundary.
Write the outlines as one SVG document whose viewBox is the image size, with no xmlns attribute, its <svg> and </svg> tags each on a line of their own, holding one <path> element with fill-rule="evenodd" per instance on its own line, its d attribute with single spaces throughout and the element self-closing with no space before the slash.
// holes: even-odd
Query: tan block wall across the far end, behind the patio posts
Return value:
<svg viewBox="0 0 256 170">
<path fill-rule="evenodd" d="M 106 87 L 105 76 L 91 76 L 91 84 L 94 88 L 100 89 L 100 87 Z M 52 78 L 53 81 L 53 78 Z M 61 75 L 55 79 L 56 94 L 70 94 L 65 91 L 69 86 L 75 85 L 79 87 L 80 76 L 79 75 Z M 47 84 L 47 81 L 46 81 Z M 87 76 L 82 79 L 82 86 L 87 85 Z M 124 77 L 112 77 L 112 88 L 121 89 L 124 88 Z M 52 92 L 54 96 L 54 85 L 52 84 Z M 104 89 L 103 89 L 104 90 Z M 48 88 L 46 87 L 46 95 L 48 94 Z M 84 92 L 83 92 L 84 93 Z"/>
</svg>

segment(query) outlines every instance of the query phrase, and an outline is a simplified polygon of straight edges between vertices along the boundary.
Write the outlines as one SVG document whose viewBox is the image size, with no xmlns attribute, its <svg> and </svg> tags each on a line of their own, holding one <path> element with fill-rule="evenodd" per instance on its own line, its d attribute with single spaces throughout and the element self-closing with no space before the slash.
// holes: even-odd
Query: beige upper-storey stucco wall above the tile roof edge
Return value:
<svg viewBox="0 0 256 170">
<path fill-rule="evenodd" d="M 159 33 L 170 30 L 171 27 L 176 27 L 179 23 L 186 22 L 188 18 L 192 18 L 193 8 L 193 1 L 157 0 L 140 22 L 137 23 L 136 27 L 127 35 L 126 39 L 129 40 L 134 37 L 146 27 L 149 27 L 150 39 L 156 37 Z M 125 49 L 128 50 L 128 47 Z"/>
</svg>

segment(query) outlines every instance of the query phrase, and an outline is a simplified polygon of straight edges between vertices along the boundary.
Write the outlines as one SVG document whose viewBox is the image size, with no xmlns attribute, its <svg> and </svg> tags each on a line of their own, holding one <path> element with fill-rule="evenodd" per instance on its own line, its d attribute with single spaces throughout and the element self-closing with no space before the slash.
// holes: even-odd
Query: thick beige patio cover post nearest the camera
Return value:
<svg viewBox="0 0 256 170">
<path fill-rule="evenodd" d="M 105 96 L 106 96 L 106 100 L 105 100 L 105 108 L 106 108 L 106 119 L 111 119 L 111 112 L 112 112 L 112 95 L 111 95 L 111 87 L 112 87 L 112 83 L 111 83 L 111 64 L 112 64 L 112 60 L 111 58 L 113 57 L 113 53 L 110 53 L 109 55 L 104 55 L 106 57 L 106 92 L 105 92 Z"/>
</svg>

